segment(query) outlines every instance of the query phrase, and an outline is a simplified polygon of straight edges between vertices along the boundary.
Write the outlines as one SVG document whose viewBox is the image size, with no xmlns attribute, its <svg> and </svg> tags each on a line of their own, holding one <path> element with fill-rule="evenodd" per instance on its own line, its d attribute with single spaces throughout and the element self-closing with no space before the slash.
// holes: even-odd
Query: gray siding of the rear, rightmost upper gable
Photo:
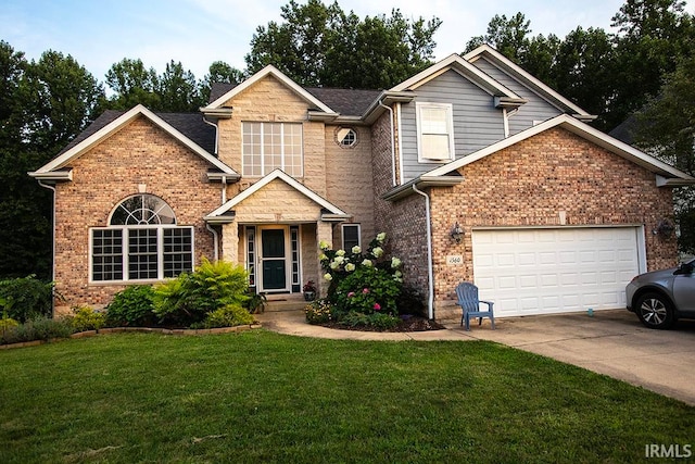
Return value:
<svg viewBox="0 0 695 464">
<path fill-rule="evenodd" d="M 528 103 L 522 104 L 519 111 L 509 117 L 510 136 L 532 127 L 534 121 L 545 121 L 563 114 L 560 109 L 551 104 L 547 100 L 504 73 L 484 58 L 473 61 L 472 64 L 519 97 L 528 100 Z"/>
</svg>

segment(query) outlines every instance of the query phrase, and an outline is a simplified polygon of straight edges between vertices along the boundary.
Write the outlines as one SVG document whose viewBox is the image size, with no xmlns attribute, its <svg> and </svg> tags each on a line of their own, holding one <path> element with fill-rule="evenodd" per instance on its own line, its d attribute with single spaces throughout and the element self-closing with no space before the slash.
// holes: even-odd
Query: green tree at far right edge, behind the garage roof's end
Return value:
<svg viewBox="0 0 695 464">
<path fill-rule="evenodd" d="M 658 97 L 648 100 L 636 121 L 640 148 L 695 175 L 695 57 L 668 75 Z M 695 253 L 695 188 L 677 189 L 674 200 L 680 248 Z"/>
</svg>

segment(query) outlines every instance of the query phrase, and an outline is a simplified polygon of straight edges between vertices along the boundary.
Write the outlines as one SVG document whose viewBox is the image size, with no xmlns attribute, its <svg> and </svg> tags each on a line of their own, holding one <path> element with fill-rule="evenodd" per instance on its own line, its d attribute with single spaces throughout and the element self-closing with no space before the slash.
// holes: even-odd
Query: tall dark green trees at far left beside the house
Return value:
<svg viewBox="0 0 695 464">
<path fill-rule="evenodd" d="M 0 41 L 0 276 L 51 274 L 52 193 L 27 176 L 100 111 L 103 88 L 72 57 L 27 62 Z M 76 205 L 78 208 L 78 205 Z"/>
</svg>

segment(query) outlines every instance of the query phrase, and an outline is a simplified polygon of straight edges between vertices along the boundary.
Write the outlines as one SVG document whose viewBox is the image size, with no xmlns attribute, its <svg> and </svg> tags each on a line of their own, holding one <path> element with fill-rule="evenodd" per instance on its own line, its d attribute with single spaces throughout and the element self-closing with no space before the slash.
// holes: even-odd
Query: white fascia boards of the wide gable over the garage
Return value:
<svg viewBox="0 0 695 464">
<path fill-rule="evenodd" d="M 680 179 L 695 180 L 694 177 L 683 173 L 682 171 L 677 170 L 675 167 L 664 163 L 662 161 L 657 160 L 654 156 L 650 156 L 628 143 L 624 143 L 618 139 L 610 137 L 607 134 L 602 133 L 601 130 L 582 123 L 581 121 L 577 121 L 572 116 L 567 114 L 560 114 L 559 116 L 553 117 L 551 120 L 544 121 L 541 124 L 538 124 L 533 127 L 530 127 L 526 130 L 522 130 L 518 134 L 515 134 L 511 137 L 500 140 L 496 143 L 493 143 L 489 147 L 485 147 L 481 150 L 478 150 L 473 153 L 470 153 L 466 156 L 459 158 L 456 161 L 452 161 L 451 163 L 444 164 L 443 166 L 437 167 L 432 171 L 429 171 L 422 176 L 444 176 L 452 171 L 458 170 L 463 166 L 466 166 L 470 163 L 475 163 L 478 160 L 481 160 L 492 153 L 496 153 L 500 150 L 503 150 L 507 147 L 510 147 L 515 143 L 518 143 L 522 140 L 526 140 L 530 137 L 533 137 L 538 134 L 541 134 L 547 129 L 553 127 L 560 126 L 566 130 L 571 131 L 572 134 L 578 135 L 584 140 L 591 141 L 593 143 L 598 145 L 599 147 L 605 148 L 606 150 L 624 158 L 628 161 L 631 161 L 642 167 L 649 170 L 655 174 L 667 174 Z"/>
</svg>

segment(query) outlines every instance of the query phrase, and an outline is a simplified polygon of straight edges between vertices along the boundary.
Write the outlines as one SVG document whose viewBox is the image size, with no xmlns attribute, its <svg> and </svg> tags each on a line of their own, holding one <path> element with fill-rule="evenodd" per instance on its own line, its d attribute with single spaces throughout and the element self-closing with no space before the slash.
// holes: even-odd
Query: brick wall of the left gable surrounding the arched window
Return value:
<svg viewBox="0 0 695 464">
<path fill-rule="evenodd" d="M 108 304 L 122 285 L 89 284 L 89 228 L 106 226 L 123 199 L 146 192 L 161 197 L 179 225 L 194 226 L 195 264 L 213 258 L 212 234 L 202 217 L 220 204 L 219 184 L 208 184 L 208 164 L 165 131 L 139 117 L 71 163 L 73 181 L 58 185 L 55 280 L 72 305 Z"/>
</svg>

